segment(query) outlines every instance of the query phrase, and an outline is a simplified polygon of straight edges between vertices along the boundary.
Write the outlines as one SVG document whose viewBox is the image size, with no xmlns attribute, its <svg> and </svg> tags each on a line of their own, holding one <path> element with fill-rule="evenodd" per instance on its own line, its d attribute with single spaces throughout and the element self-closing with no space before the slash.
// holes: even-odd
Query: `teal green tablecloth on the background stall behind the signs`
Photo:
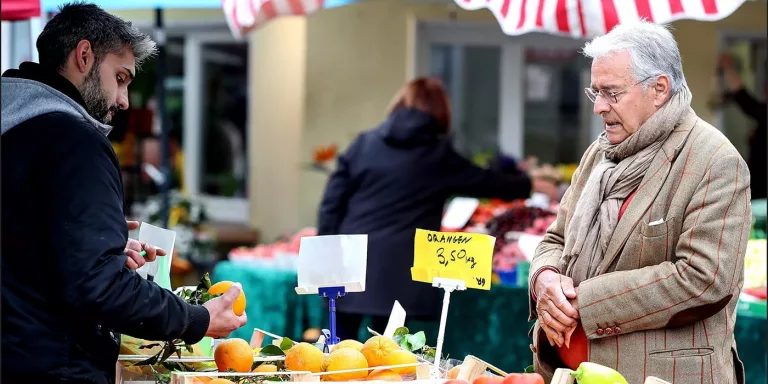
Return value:
<svg viewBox="0 0 768 384">
<path fill-rule="evenodd" d="M 245 290 L 248 325 L 233 337 L 249 340 L 253 328 L 261 328 L 300 340 L 307 328 L 328 328 L 323 299 L 297 295 L 293 271 L 222 262 L 214 269 L 213 280 L 239 281 Z M 451 295 L 445 353 L 459 359 L 472 354 L 507 372 L 521 372 L 532 362 L 527 303 L 527 290 L 521 288 L 495 286 L 490 292 L 468 290 Z M 407 325 L 412 330 L 424 330 L 427 344 L 434 346 L 436 323 Z M 765 317 L 740 314 L 735 336 L 746 366 L 747 383 L 766 383 Z M 361 332 L 360 339 L 366 337 Z"/>
</svg>

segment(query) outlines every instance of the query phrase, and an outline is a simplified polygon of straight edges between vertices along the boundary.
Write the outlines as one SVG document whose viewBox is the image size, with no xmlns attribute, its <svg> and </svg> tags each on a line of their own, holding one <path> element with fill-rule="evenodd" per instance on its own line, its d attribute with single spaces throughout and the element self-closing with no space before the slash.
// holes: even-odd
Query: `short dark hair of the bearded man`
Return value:
<svg viewBox="0 0 768 384">
<path fill-rule="evenodd" d="M 155 42 L 130 22 L 110 15 L 95 4 L 74 2 L 59 8 L 37 38 L 40 64 L 60 71 L 67 58 L 82 40 L 91 43 L 96 65 L 108 53 L 120 54 L 131 49 L 136 67 L 155 54 Z"/>
</svg>

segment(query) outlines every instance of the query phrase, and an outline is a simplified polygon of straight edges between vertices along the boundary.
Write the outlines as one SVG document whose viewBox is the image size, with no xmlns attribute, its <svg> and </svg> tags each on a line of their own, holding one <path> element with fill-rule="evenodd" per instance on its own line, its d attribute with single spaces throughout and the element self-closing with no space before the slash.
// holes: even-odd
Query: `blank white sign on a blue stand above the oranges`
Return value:
<svg viewBox="0 0 768 384">
<path fill-rule="evenodd" d="M 308 236 L 301 238 L 296 293 L 318 293 L 320 287 L 365 291 L 368 235 Z"/>
</svg>

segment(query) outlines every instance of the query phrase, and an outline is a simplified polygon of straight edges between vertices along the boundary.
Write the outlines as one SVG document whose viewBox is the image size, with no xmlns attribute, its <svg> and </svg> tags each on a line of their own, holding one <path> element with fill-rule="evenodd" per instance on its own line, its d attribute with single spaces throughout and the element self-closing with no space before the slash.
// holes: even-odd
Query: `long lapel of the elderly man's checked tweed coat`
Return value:
<svg viewBox="0 0 768 384">
<path fill-rule="evenodd" d="M 608 242 L 608 248 L 605 251 L 602 265 L 600 265 L 599 274 L 605 273 L 613 263 L 624 247 L 624 244 L 626 244 L 627 239 L 629 239 L 629 236 L 634 232 L 637 224 L 642 220 L 645 212 L 648 211 L 648 208 L 656 200 L 656 196 L 658 196 L 665 181 L 667 181 L 669 171 L 672 169 L 672 163 L 680 154 L 696 121 L 698 121 L 698 116 L 696 116 L 693 110 L 690 110 L 683 119 L 683 122 L 675 128 L 664 142 L 661 147 L 662 150 L 653 158 L 648 171 L 643 177 L 643 181 L 640 182 L 640 186 L 637 188 L 635 197 L 632 198 L 632 201 L 627 206 L 624 216 L 616 224 L 611 240 Z M 666 218 L 653 218 L 653 220 L 656 219 Z"/>
</svg>

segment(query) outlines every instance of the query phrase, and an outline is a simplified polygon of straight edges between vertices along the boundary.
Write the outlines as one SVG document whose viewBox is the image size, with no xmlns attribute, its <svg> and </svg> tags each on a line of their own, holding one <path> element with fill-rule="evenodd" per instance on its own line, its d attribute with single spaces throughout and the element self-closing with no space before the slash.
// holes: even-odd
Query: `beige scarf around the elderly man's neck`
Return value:
<svg viewBox="0 0 768 384">
<path fill-rule="evenodd" d="M 656 153 L 690 105 L 691 93 L 684 86 L 623 142 L 612 145 L 605 132 L 600 135 L 602 160 L 592 169 L 565 230 L 560 270 L 574 285 L 597 275 L 621 205 L 640 185 Z"/>
</svg>

